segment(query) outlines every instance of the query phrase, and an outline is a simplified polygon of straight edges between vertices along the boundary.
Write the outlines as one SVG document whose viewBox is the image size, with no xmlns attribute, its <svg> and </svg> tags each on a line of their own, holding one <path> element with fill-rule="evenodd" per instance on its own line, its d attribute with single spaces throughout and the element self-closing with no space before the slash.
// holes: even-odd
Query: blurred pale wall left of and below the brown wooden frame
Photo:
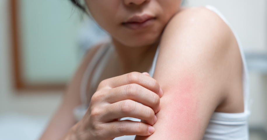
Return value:
<svg viewBox="0 0 267 140">
<path fill-rule="evenodd" d="M 62 100 L 62 92 L 18 94 L 13 89 L 9 0 L 0 0 L 0 116 L 5 113 L 53 115 Z"/>
</svg>

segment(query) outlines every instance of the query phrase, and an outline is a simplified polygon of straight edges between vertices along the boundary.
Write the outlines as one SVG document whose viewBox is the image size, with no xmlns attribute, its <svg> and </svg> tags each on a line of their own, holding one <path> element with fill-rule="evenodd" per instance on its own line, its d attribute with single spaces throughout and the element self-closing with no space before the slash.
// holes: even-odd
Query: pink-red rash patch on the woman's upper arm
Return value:
<svg viewBox="0 0 267 140">
<path fill-rule="evenodd" d="M 179 83 L 168 85 L 163 89 L 165 89 L 165 97 L 161 102 L 165 103 L 164 112 L 168 113 L 164 113 L 162 120 L 166 121 L 164 122 L 166 128 L 171 128 L 165 129 L 167 130 L 165 133 L 177 134 L 179 132 L 185 135 L 192 133 L 192 129 L 199 122 L 196 116 L 199 107 L 196 96 L 198 89 L 196 78 L 192 75 L 184 76 Z M 164 101 L 165 99 L 167 101 Z"/>
</svg>

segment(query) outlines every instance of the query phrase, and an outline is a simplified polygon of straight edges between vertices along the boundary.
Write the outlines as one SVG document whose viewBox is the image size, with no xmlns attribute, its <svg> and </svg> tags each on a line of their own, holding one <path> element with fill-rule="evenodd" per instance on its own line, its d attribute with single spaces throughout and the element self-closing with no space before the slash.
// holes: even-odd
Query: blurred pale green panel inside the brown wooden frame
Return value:
<svg viewBox="0 0 267 140">
<path fill-rule="evenodd" d="M 21 0 L 22 61 L 31 83 L 65 82 L 79 61 L 77 33 L 84 23 L 69 0 Z"/>
</svg>

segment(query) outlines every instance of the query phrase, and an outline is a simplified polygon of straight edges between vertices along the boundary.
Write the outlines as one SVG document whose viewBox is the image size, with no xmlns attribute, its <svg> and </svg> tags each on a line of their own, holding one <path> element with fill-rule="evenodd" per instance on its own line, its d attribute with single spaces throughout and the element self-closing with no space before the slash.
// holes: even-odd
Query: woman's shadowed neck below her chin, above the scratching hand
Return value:
<svg viewBox="0 0 267 140">
<path fill-rule="evenodd" d="M 148 72 L 159 42 L 142 47 L 129 47 L 113 39 L 123 74 L 129 72 Z"/>
</svg>

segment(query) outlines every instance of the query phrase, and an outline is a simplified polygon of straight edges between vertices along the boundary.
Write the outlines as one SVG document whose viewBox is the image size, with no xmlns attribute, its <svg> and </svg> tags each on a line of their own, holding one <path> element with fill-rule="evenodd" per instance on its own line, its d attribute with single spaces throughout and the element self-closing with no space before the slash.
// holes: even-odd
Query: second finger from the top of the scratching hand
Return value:
<svg viewBox="0 0 267 140">
<path fill-rule="evenodd" d="M 152 108 L 154 113 L 159 111 L 159 96 L 138 84 L 128 84 L 110 89 L 105 98 L 109 103 L 130 99 Z"/>
</svg>

